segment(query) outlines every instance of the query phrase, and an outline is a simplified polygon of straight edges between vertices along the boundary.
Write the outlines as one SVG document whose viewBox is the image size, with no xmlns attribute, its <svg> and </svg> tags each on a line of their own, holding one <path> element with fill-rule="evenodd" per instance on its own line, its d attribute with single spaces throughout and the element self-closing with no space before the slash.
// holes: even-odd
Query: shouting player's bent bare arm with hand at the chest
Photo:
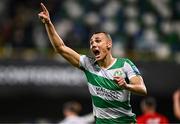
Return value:
<svg viewBox="0 0 180 124">
<path fill-rule="evenodd" d="M 114 80 L 117 84 L 133 93 L 140 95 L 147 95 L 146 86 L 144 84 L 143 78 L 140 75 L 136 75 L 130 78 L 130 83 L 127 83 L 126 80 L 121 76 L 115 76 Z"/>
</svg>

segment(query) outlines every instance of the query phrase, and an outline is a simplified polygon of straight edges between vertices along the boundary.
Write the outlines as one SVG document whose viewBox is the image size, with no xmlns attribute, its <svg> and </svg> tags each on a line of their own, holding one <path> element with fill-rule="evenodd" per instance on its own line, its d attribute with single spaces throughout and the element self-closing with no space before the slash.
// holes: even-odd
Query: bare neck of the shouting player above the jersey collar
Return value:
<svg viewBox="0 0 180 124">
<path fill-rule="evenodd" d="M 108 54 L 104 59 L 97 61 L 98 65 L 102 68 L 107 68 L 114 62 L 115 58 L 111 54 Z"/>
</svg>

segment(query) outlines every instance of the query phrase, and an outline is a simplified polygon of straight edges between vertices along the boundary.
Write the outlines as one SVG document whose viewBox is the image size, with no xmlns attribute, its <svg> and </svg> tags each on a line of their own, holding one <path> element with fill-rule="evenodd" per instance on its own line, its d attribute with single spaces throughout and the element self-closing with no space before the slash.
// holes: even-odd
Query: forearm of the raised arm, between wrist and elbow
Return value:
<svg viewBox="0 0 180 124">
<path fill-rule="evenodd" d="M 62 47 L 65 46 L 63 40 L 60 38 L 58 33 L 55 30 L 54 25 L 52 24 L 51 21 L 48 23 L 45 23 L 46 31 L 48 34 L 48 37 L 51 41 L 51 44 L 53 45 L 54 49 L 56 52 L 62 51 Z"/>
</svg>

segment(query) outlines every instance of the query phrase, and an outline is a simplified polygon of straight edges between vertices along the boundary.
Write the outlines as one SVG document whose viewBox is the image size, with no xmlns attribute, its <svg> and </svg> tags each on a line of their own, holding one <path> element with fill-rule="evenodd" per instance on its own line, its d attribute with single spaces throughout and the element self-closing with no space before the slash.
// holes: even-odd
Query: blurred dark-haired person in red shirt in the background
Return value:
<svg viewBox="0 0 180 124">
<path fill-rule="evenodd" d="M 168 124 L 167 117 L 156 112 L 156 100 L 147 97 L 141 102 L 143 115 L 137 117 L 138 124 Z"/>
</svg>

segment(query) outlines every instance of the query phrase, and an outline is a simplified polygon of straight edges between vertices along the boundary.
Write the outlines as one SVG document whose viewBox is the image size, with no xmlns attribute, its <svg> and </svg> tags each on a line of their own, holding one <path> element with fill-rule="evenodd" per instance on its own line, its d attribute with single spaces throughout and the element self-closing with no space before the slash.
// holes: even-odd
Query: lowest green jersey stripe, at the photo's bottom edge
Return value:
<svg viewBox="0 0 180 124">
<path fill-rule="evenodd" d="M 102 119 L 96 118 L 96 124 L 130 124 L 136 123 L 136 116 L 124 116 L 119 118 Z"/>
</svg>

